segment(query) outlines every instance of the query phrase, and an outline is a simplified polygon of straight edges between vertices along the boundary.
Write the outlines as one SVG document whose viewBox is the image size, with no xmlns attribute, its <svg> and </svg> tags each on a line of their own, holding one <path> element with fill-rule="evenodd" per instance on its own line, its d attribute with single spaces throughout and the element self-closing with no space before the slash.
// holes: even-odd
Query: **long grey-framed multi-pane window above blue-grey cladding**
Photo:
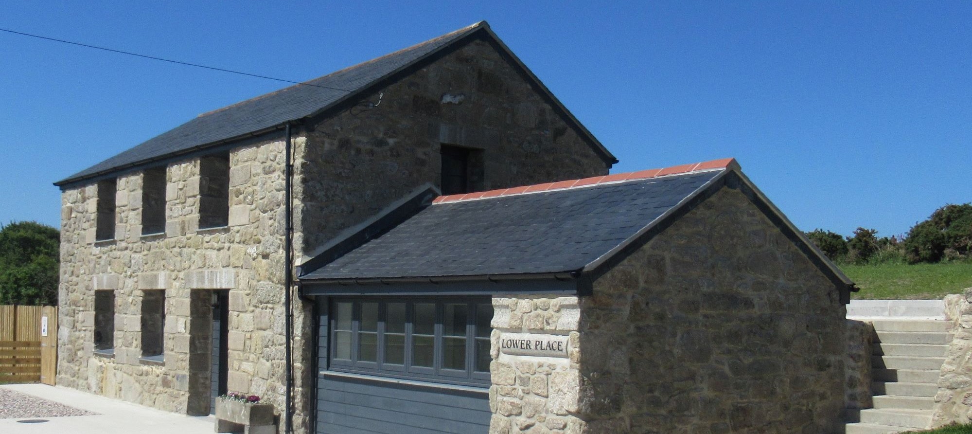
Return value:
<svg viewBox="0 0 972 434">
<path fill-rule="evenodd" d="M 335 299 L 330 369 L 489 384 L 490 299 Z"/>
</svg>

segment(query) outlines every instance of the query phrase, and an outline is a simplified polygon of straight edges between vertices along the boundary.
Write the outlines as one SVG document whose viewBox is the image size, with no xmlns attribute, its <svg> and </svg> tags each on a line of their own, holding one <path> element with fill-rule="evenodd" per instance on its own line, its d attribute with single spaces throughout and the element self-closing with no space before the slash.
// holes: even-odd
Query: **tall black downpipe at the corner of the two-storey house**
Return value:
<svg viewBox="0 0 972 434">
<path fill-rule="evenodd" d="M 287 353 L 287 397 L 286 397 L 286 407 L 287 410 L 284 412 L 284 433 L 289 434 L 294 432 L 294 356 L 292 354 L 292 346 L 294 342 L 294 310 L 291 307 L 291 292 L 293 292 L 294 286 L 294 257 L 292 251 L 294 250 L 294 199 L 293 196 L 293 178 L 294 178 L 294 163 L 291 161 L 291 124 L 287 124 L 287 156 L 284 163 L 286 163 L 284 168 L 284 195 L 287 197 L 287 205 L 284 209 L 284 218 L 287 219 L 287 234 L 284 240 L 284 309 L 285 322 L 286 322 L 286 335 L 287 344 L 284 345 L 285 351 Z"/>
</svg>

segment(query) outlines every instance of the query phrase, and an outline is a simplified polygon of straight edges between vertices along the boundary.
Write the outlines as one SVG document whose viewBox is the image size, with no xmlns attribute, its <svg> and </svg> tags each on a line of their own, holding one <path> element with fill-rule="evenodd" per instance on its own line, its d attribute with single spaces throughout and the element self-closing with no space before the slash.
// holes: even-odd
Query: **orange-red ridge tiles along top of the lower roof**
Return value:
<svg viewBox="0 0 972 434">
<path fill-rule="evenodd" d="M 688 173 L 706 172 L 712 170 L 738 169 L 739 163 L 734 158 L 711 160 L 701 163 L 678 164 L 670 167 L 649 168 L 633 172 L 614 173 L 612 175 L 592 176 L 590 178 L 569 179 L 558 182 L 511 187 L 508 189 L 489 190 L 485 192 L 463 193 L 458 195 L 439 196 L 433 204 L 451 203 L 461 200 L 491 199 L 505 196 L 524 195 L 530 193 L 549 192 L 554 190 L 569 190 L 579 187 L 591 187 L 601 184 L 616 184 L 641 179 L 661 178 L 664 176 L 684 175 Z"/>
</svg>

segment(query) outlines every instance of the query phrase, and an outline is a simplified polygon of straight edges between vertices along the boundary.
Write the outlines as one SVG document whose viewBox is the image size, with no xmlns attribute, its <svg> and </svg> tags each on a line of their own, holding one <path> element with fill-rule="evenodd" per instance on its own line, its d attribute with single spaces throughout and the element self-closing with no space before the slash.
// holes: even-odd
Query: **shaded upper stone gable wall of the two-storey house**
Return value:
<svg viewBox="0 0 972 434">
<path fill-rule="evenodd" d="M 429 183 L 440 144 L 483 150 L 483 189 L 608 174 L 608 164 L 483 41 L 446 54 L 307 127 L 297 150 L 297 245 L 308 257 L 341 231 Z"/>
</svg>

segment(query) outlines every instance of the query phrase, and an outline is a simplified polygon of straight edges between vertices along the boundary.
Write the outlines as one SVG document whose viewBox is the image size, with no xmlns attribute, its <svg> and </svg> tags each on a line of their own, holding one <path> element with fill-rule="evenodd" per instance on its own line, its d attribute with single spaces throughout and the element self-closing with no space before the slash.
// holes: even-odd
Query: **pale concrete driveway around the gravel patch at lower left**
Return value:
<svg viewBox="0 0 972 434">
<path fill-rule="evenodd" d="M 212 416 L 177 415 L 46 384 L 7 384 L 0 387 L 96 414 L 30 417 L 48 420 L 38 423 L 17 421 L 27 417 L 0 418 L 0 433 L 3 434 L 209 434 L 213 432 Z"/>
</svg>

